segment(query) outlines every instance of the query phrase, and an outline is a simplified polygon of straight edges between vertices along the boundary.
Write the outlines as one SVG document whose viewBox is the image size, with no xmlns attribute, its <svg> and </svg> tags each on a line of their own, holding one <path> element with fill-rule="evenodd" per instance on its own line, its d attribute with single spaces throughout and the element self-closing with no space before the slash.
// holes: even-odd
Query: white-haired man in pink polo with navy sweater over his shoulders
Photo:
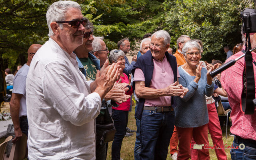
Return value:
<svg viewBox="0 0 256 160">
<path fill-rule="evenodd" d="M 140 119 L 143 160 L 166 159 L 175 121 L 173 96 L 183 97 L 188 91 L 178 84 L 177 62 L 167 52 L 169 46 L 168 32 L 155 32 L 150 50 L 132 68 L 133 87 L 139 98 L 135 116 Z"/>
</svg>

